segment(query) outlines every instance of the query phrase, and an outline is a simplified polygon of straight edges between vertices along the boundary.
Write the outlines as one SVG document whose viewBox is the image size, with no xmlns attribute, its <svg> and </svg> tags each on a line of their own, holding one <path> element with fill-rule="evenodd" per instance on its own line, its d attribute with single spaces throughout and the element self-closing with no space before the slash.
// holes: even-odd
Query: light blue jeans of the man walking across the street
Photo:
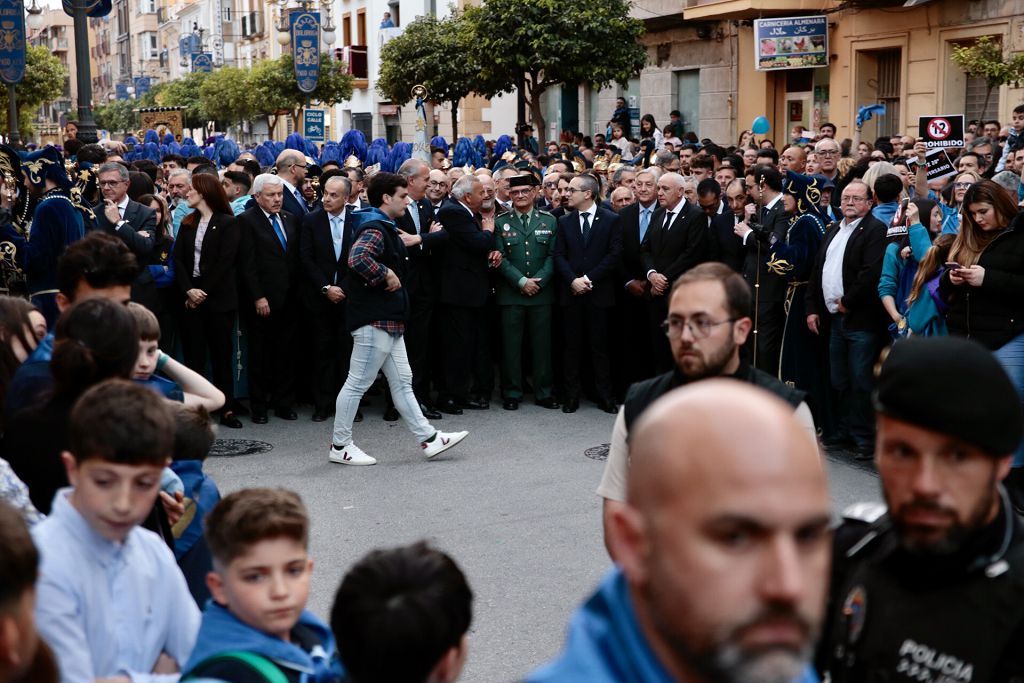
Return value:
<svg viewBox="0 0 1024 683">
<path fill-rule="evenodd" d="M 417 440 L 423 442 L 434 435 L 436 430 L 423 417 L 420 403 L 413 393 L 413 370 L 406 352 L 406 338 L 365 325 L 352 332 L 348 379 L 345 380 L 345 386 L 341 387 L 335 405 L 335 445 L 348 445 L 352 442 L 352 420 L 359 410 L 359 400 L 377 379 L 379 371 L 384 372 L 391 388 L 394 407 Z"/>
</svg>

